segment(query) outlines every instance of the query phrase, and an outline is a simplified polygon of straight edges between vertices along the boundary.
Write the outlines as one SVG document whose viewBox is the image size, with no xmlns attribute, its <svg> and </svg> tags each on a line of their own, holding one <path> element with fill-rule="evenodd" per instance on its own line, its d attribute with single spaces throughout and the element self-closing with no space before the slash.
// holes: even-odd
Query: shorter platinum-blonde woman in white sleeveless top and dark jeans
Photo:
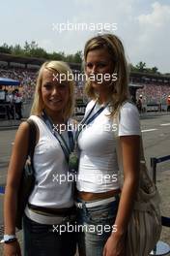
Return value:
<svg viewBox="0 0 170 256">
<path fill-rule="evenodd" d="M 37 126 L 33 158 L 36 183 L 23 217 L 24 256 L 72 256 L 75 251 L 74 233 L 67 229 L 60 232 L 59 228 L 66 224 L 66 219 L 73 225 L 74 216 L 73 183 L 67 178 L 67 157 L 58 140 L 62 138 L 71 149 L 72 132 L 69 134 L 68 125 L 73 110 L 74 82 L 68 80 L 69 74 L 71 69 L 64 62 L 48 61 L 42 64 L 38 75 L 29 117 Z M 16 194 L 25 163 L 28 135 L 29 124 L 22 122 L 14 140 L 5 192 L 5 256 L 21 255 L 14 224 Z M 65 182 L 61 182 L 61 176 L 65 176 Z M 11 240 L 7 240 L 7 235 Z"/>
</svg>

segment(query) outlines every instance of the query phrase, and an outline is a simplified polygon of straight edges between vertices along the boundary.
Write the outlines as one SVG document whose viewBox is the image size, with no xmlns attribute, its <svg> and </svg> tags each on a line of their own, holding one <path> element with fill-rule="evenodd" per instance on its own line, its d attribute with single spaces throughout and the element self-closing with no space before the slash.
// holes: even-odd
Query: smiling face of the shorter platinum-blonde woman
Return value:
<svg viewBox="0 0 170 256">
<path fill-rule="evenodd" d="M 67 81 L 60 81 L 57 72 L 44 69 L 42 72 L 42 101 L 44 109 L 54 114 L 62 112 L 69 101 L 70 89 Z"/>
</svg>

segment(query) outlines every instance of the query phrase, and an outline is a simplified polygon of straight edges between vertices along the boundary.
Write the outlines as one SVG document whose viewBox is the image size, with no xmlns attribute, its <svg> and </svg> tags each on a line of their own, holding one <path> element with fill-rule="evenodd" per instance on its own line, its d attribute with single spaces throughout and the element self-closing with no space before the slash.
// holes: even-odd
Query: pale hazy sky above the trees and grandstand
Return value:
<svg viewBox="0 0 170 256">
<path fill-rule="evenodd" d="M 120 37 L 128 62 L 170 73 L 170 0 L 5 0 L 0 24 L 0 46 L 36 41 L 67 54 L 103 29 Z"/>
</svg>

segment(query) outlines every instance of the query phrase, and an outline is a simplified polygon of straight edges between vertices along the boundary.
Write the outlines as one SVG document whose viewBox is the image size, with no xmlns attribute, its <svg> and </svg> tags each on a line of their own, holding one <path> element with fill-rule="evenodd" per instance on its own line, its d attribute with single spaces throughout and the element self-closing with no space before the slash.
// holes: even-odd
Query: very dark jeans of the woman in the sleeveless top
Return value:
<svg viewBox="0 0 170 256">
<path fill-rule="evenodd" d="M 59 234 L 54 227 L 39 224 L 24 215 L 24 256 L 73 256 L 76 250 L 75 232 Z"/>
</svg>

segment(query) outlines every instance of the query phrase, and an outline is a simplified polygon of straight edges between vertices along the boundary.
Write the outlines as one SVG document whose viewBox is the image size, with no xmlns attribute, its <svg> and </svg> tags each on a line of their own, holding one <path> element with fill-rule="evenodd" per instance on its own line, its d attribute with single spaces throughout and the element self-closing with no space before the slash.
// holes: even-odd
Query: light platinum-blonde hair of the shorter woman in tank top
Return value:
<svg viewBox="0 0 170 256">
<path fill-rule="evenodd" d="M 42 73 L 43 70 L 49 70 L 53 72 L 58 72 L 59 74 L 65 74 L 66 78 L 68 78 L 68 75 L 71 74 L 70 67 L 63 61 L 46 61 L 42 64 L 42 67 L 40 68 L 37 83 L 36 83 L 36 91 L 34 95 L 34 101 L 31 109 L 31 114 L 35 115 L 41 115 L 42 110 L 44 108 L 44 104 L 42 101 Z M 72 76 L 71 76 L 72 77 Z M 66 108 L 64 109 L 63 116 L 64 118 L 71 117 L 71 114 L 73 113 L 74 108 L 74 81 L 73 80 L 67 80 L 67 83 L 69 84 L 69 100 L 66 105 Z"/>
</svg>

